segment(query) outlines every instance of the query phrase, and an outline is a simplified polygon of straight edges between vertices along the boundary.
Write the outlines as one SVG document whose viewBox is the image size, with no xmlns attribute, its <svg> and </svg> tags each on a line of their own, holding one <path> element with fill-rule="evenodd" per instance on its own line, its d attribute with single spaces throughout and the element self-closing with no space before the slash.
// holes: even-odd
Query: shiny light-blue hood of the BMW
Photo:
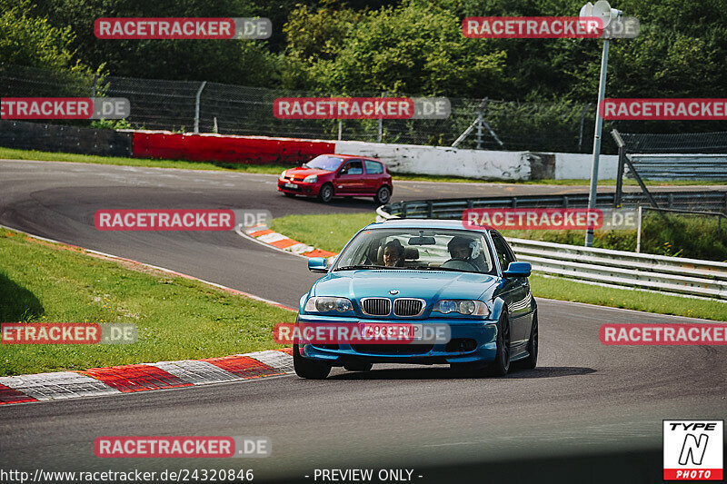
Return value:
<svg viewBox="0 0 727 484">
<path fill-rule="evenodd" d="M 397 298 L 479 299 L 493 289 L 498 278 L 489 274 L 468 272 L 382 269 L 331 272 L 312 288 L 314 296 L 340 296 L 349 299 Z"/>
</svg>

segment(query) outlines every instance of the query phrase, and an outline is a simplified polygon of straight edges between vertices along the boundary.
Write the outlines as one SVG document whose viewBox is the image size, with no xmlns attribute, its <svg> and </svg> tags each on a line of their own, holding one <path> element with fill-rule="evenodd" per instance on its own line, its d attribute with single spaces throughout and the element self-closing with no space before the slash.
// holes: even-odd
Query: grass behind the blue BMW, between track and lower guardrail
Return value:
<svg viewBox="0 0 727 484">
<path fill-rule="evenodd" d="M 271 228 L 275 232 L 284 233 L 296 241 L 314 245 L 326 251 L 340 252 L 354 233 L 358 232 L 365 224 L 373 222 L 374 218 L 375 214 L 373 212 L 288 215 L 274 219 Z M 538 274 L 533 274 L 530 282 L 535 297 L 727 321 L 727 303 L 719 301 L 705 301 L 649 291 L 602 287 L 575 280 L 544 277 Z"/>
</svg>

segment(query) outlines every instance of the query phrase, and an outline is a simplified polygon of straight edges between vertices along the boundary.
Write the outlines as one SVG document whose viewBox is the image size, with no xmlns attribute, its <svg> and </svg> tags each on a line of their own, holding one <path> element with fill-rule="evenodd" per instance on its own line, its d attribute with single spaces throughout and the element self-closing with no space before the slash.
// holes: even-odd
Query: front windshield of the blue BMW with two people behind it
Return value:
<svg viewBox="0 0 727 484">
<path fill-rule="evenodd" d="M 446 229 L 360 232 L 341 252 L 333 268 L 352 269 L 495 273 L 483 233 Z"/>
</svg>

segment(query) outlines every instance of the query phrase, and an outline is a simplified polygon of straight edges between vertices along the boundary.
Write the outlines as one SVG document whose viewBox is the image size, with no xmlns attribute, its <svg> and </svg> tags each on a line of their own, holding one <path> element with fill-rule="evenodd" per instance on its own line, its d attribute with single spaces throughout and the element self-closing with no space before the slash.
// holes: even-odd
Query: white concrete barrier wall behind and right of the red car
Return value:
<svg viewBox="0 0 727 484">
<path fill-rule="evenodd" d="M 529 180 L 530 152 L 463 150 L 418 144 L 335 142 L 335 153 L 373 156 L 386 163 L 392 173 L 417 173 L 494 180 Z M 557 180 L 591 178 L 592 155 L 587 153 L 543 153 L 555 156 Z M 616 178 L 618 156 L 602 154 L 599 178 Z"/>
</svg>

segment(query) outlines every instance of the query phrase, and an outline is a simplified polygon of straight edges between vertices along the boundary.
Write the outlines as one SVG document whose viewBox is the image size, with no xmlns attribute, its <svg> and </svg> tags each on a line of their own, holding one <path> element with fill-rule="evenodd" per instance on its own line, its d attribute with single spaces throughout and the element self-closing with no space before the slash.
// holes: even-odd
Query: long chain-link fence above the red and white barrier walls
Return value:
<svg viewBox="0 0 727 484">
<path fill-rule="evenodd" d="M 594 104 L 520 103 L 451 98 L 452 114 L 443 120 L 279 120 L 278 97 L 348 95 L 376 97 L 403 93 L 313 93 L 233 84 L 98 77 L 55 73 L 0 64 L 0 95 L 125 97 L 134 128 L 192 132 L 197 113 L 200 133 L 248 134 L 383 143 L 411 143 L 494 150 L 588 153 L 592 150 Z M 481 122 L 478 122 L 481 120 Z M 340 130 L 340 131 L 339 131 Z M 615 152 L 604 140 L 603 150 Z"/>
</svg>

